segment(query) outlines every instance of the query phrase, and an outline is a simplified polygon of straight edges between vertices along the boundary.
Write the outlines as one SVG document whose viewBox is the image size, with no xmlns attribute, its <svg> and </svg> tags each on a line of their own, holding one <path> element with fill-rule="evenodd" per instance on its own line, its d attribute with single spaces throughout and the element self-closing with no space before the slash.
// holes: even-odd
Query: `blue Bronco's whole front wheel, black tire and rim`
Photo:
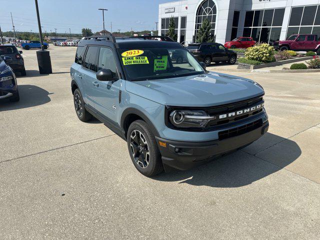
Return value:
<svg viewBox="0 0 320 240">
<path fill-rule="evenodd" d="M 127 146 L 133 165 L 145 176 L 153 176 L 163 171 L 160 152 L 149 126 L 136 120 L 129 126 Z"/>
</svg>

